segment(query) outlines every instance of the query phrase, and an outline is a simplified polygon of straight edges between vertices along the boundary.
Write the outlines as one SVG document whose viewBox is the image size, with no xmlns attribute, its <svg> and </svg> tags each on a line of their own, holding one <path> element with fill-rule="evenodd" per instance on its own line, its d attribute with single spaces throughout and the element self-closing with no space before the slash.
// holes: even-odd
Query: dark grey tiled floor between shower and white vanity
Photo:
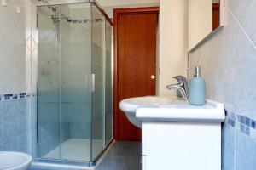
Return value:
<svg viewBox="0 0 256 170">
<path fill-rule="evenodd" d="M 141 142 L 117 142 L 96 170 L 141 170 L 141 154 Z"/>
</svg>

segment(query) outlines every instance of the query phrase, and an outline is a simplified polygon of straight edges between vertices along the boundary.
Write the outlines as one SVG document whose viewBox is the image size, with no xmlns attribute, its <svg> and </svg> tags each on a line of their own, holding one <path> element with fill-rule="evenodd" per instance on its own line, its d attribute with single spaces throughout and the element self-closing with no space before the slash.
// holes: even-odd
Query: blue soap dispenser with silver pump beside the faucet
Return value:
<svg viewBox="0 0 256 170">
<path fill-rule="evenodd" d="M 206 82 L 201 77 L 201 67 L 195 67 L 194 77 L 189 81 L 189 103 L 190 105 L 205 105 Z"/>
</svg>

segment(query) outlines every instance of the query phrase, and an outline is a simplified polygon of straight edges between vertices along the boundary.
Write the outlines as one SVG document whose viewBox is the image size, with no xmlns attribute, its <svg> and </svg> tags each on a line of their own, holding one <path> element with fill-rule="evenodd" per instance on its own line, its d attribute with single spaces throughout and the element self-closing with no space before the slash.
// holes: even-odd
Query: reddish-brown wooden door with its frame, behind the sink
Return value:
<svg viewBox="0 0 256 170">
<path fill-rule="evenodd" d="M 154 10 L 152 10 L 154 9 Z M 115 9 L 115 139 L 141 140 L 141 129 L 119 110 L 122 99 L 155 95 L 158 8 Z"/>
</svg>

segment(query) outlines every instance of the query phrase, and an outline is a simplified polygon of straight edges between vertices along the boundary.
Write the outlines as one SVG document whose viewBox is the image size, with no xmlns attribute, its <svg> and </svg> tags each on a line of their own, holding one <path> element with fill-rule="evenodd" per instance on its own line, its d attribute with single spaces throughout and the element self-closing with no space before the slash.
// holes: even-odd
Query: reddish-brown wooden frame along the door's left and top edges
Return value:
<svg viewBox="0 0 256 170">
<path fill-rule="evenodd" d="M 114 68 L 113 68 L 113 139 L 119 140 L 119 16 L 121 14 L 159 14 L 159 7 L 114 8 Z"/>
</svg>

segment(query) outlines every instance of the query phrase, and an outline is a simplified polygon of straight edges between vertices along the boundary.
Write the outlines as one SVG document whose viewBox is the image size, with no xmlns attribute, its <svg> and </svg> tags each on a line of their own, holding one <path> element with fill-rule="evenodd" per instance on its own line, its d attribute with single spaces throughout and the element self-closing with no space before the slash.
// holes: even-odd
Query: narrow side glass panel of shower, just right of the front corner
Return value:
<svg viewBox="0 0 256 170">
<path fill-rule="evenodd" d="M 95 159 L 105 147 L 105 17 L 91 7 L 91 70 L 92 80 L 92 158 Z"/>
</svg>

